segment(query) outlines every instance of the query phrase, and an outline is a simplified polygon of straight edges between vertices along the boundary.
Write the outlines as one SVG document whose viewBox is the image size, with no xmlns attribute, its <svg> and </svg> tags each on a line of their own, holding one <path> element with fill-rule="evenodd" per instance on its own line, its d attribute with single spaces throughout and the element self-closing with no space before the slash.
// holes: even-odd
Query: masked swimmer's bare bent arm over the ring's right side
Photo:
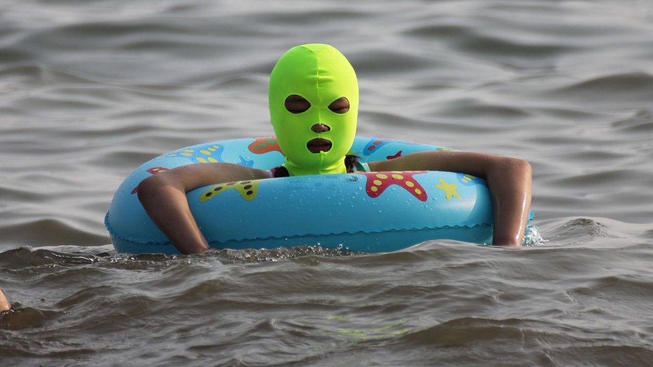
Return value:
<svg viewBox="0 0 653 367">
<path fill-rule="evenodd" d="M 530 214 L 532 168 L 515 158 L 469 152 L 418 152 L 371 162 L 370 170 L 441 170 L 485 178 L 494 207 L 496 246 L 520 246 Z"/>
</svg>

